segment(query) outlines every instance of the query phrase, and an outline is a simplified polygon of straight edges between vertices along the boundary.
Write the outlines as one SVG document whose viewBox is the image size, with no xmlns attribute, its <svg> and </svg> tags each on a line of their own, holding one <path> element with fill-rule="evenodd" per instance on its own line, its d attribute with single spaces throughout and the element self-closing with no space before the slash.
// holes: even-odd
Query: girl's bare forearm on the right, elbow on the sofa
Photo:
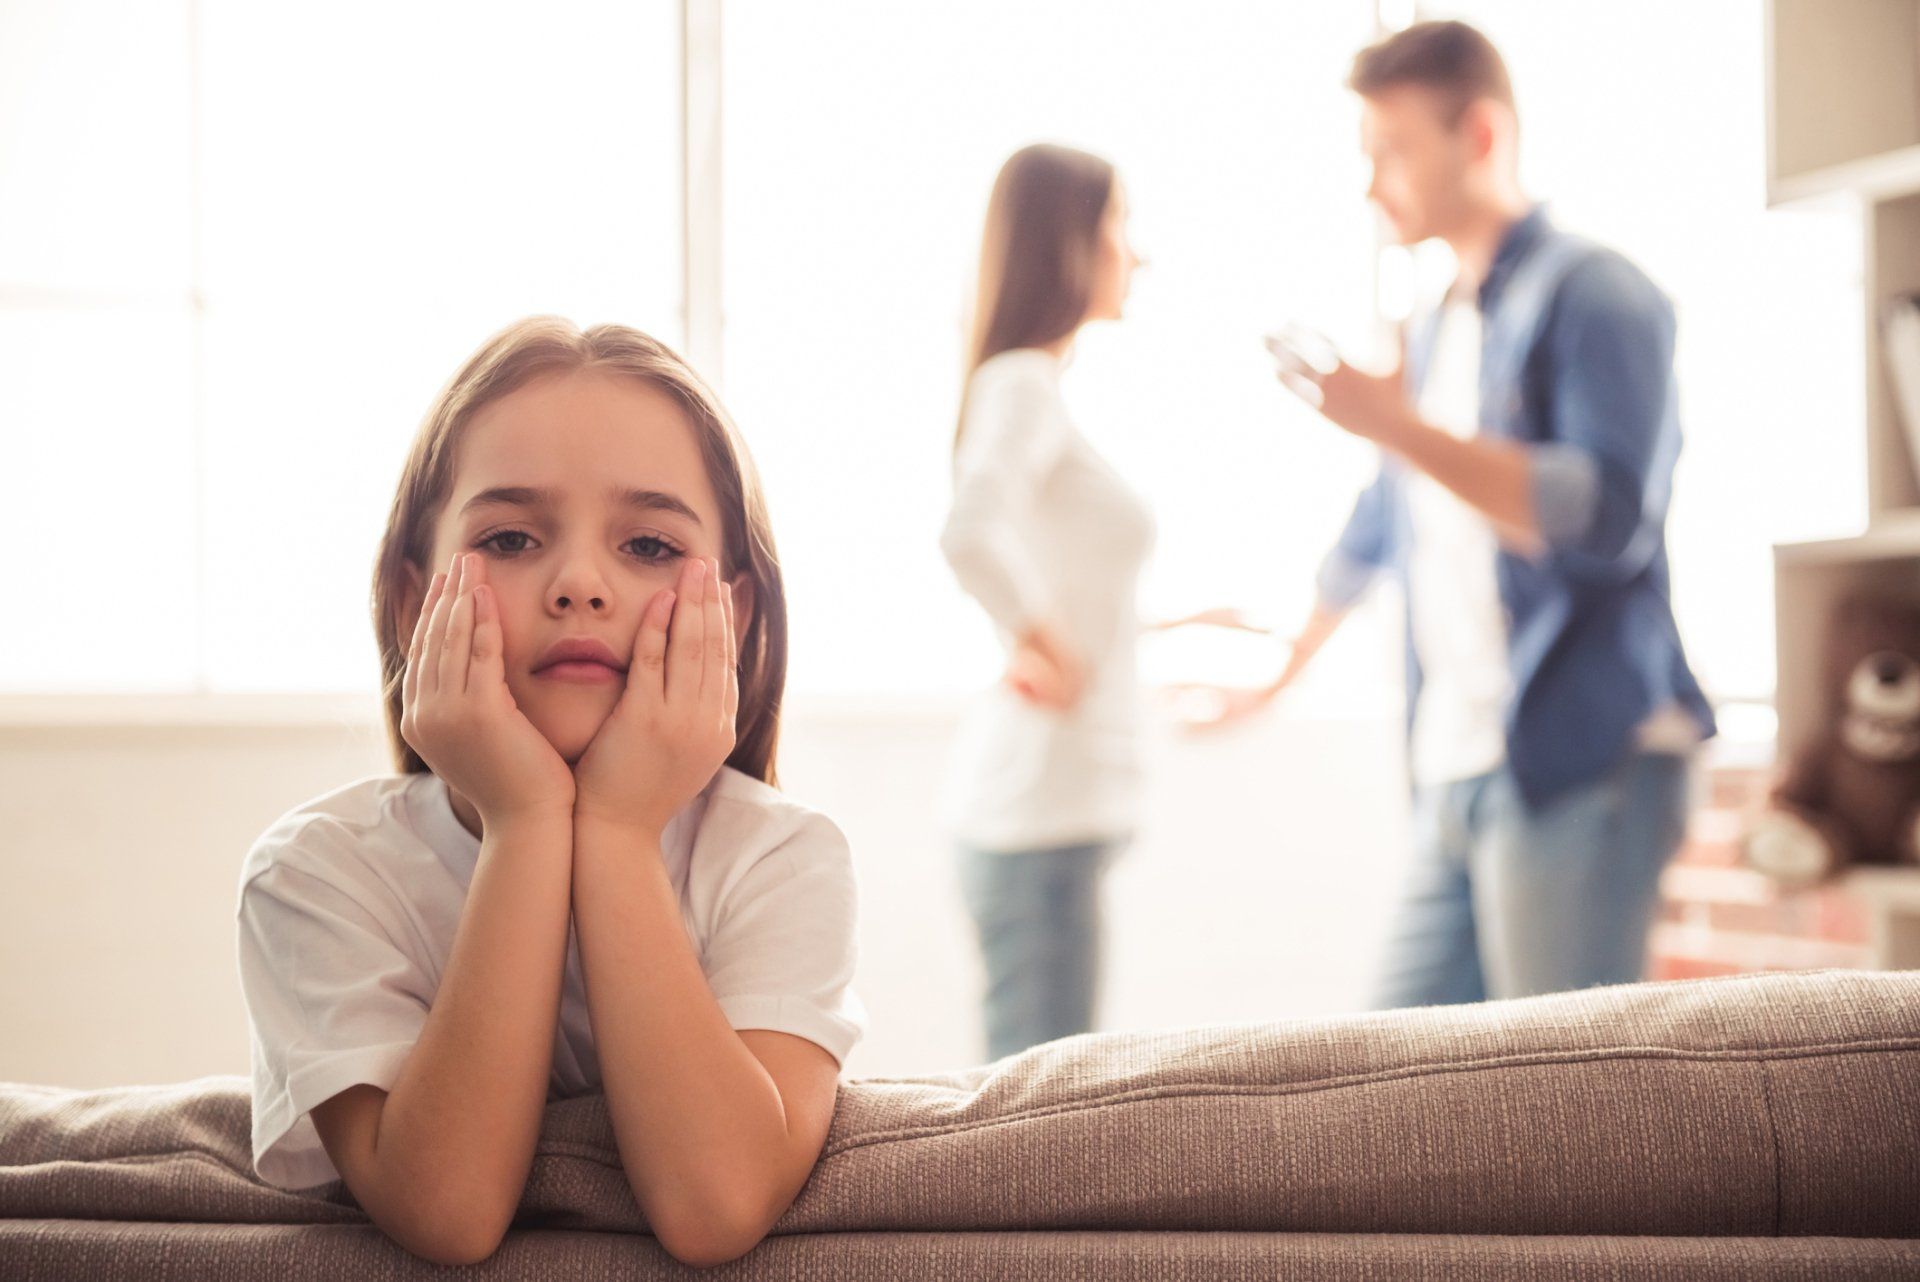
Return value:
<svg viewBox="0 0 1920 1282">
<path fill-rule="evenodd" d="M 751 1249 L 812 1165 L 780 1088 L 714 1002 L 657 835 L 580 823 L 574 929 L 634 1198 L 687 1263 Z"/>
</svg>

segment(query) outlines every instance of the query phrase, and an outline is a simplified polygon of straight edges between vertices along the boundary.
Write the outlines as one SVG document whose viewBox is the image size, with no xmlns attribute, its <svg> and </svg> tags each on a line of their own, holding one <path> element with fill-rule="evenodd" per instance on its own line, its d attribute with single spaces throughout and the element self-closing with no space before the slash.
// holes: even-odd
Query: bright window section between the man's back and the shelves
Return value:
<svg viewBox="0 0 1920 1282">
<path fill-rule="evenodd" d="M 1423 17 L 1494 38 L 1528 190 L 1672 296 L 1674 612 L 1713 695 L 1770 697 L 1772 545 L 1864 526 L 1866 447 L 1859 215 L 1766 209 L 1759 6 L 1461 0 Z"/>
</svg>

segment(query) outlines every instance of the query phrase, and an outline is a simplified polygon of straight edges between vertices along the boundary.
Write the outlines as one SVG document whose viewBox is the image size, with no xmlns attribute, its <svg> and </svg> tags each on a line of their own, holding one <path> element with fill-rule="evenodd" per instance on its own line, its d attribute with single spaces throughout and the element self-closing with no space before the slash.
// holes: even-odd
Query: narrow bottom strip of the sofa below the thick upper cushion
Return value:
<svg viewBox="0 0 1920 1282">
<path fill-rule="evenodd" d="M 837 1232 L 768 1238 L 689 1269 L 643 1234 L 516 1228 L 457 1274 L 371 1224 L 4 1221 L 8 1282 L 1912 1282 L 1920 1242 L 1885 1238 L 1538 1238 L 1290 1232 Z"/>
</svg>

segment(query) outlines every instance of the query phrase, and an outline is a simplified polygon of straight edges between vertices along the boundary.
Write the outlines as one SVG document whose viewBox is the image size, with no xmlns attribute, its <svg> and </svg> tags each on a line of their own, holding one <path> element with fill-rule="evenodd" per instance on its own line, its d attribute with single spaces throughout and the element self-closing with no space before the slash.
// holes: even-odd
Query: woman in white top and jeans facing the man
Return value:
<svg viewBox="0 0 1920 1282">
<path fill-rule="evenodd" d="M 1008 651 L 952 789 L 991 1057 L 1092 1027 L 1100 879 L 1137 821 L 1135 585 L 1154 522 L 1073 428 L 1060 370 L 1083 324 L 1119 319 L 1139 263 L 1104 159 L 1031 146 L 1000 169 L 941 534 Z"/>
</svg>

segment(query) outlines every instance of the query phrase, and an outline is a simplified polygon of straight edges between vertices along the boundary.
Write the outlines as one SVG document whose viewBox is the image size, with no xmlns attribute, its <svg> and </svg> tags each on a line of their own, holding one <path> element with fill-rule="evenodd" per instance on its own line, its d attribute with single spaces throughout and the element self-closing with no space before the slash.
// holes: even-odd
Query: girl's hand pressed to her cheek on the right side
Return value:
<svg viewBox="0 0 1920 1282">
<path fill-rule="evenodd" d="M 574 819 L 659 837 L 733 752 L 733 585 L 689 558 L 639 616 L 626 693 L 574 768 Z"/>
</svg>

